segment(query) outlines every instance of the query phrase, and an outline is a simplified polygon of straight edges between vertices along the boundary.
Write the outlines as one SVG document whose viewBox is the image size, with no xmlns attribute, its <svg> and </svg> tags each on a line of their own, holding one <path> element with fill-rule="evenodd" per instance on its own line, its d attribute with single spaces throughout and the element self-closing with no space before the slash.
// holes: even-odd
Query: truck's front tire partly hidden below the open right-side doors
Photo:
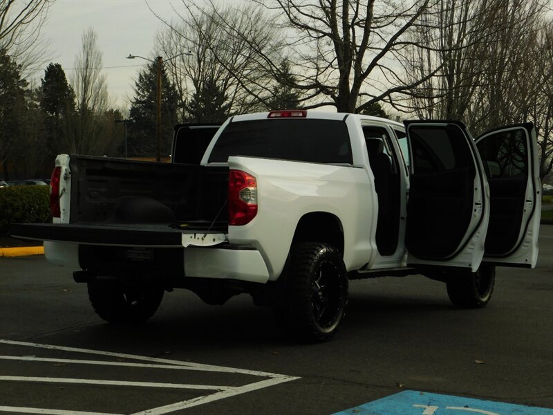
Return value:
<svg viewBox="0 0 553 415">
<path fill-rule="evenodd" d="M 496 267 L 480 265 L 476 273 L 453 275 L 447 281 L 447 295 L 454 306 L 482 308 L 491 299 L 496 281 Z"/>
</svg>

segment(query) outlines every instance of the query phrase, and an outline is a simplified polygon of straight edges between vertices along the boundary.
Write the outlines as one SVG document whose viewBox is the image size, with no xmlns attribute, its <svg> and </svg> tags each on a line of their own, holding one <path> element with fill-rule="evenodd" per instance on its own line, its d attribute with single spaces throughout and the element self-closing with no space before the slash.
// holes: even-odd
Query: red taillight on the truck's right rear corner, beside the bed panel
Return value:
<svg viewBox="0 0 553 415">
<path fill-rule="evenodd" d="M 245 225 L 257 214 L 257 181 L 240 170 L 229 172 L 229 225 Z"/>
</svg>

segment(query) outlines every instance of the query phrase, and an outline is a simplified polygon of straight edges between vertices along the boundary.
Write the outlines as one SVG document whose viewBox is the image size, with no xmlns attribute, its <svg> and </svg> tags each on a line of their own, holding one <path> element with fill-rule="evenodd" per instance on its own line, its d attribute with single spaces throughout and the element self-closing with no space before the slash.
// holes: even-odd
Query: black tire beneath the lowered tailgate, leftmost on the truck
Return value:
<svg viewBox="0 0 553 415">
<path fill-rule="evenodd" d="M 124 286 L 111 279 L 88 282 L 88 298 L 97 315 L 111 323 L 148 320 L 160 305 L 164 290 L 158 284 Z"/>
</svg>

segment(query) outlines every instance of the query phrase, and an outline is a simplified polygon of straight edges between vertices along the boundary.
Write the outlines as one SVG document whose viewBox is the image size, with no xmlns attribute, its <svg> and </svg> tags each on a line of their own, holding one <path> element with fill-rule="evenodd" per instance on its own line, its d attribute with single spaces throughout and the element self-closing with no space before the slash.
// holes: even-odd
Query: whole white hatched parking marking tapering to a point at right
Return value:
<svg viewBox="0 0 553 415">
<path fill-rule="evenodd" d="M 293 376 L 285 376 L 281 374 L 272 374 L 264 371 L 253 371 L 248 369 L 238 369 L 233 367 L 223 367 L 214 365 L 201 365 L 193 362 L 182 362 L 180 360 L 170 360 L 162 358 L 150 358 L 147 356 L 131 355 L 126 353 L 115 353 L 111 351 L 100 351 L 93 349 L 79 349 L 76 347 L 63 347 L 54 346 L 50 344 L 39 344 L 30 342 L 17 342 L 15 340 L 1 340 L 0 343 L 12 344 L 23 347 L 35 347 L 40 349 L 50 349 L 55 351 L 68 351 L 74 353 L 87 353 L 100 356 L 109 356 L 112 358 L 124 358 L 129 360 L 142 360 L 144 362 L 151 363 L 135 363 L 135 362 L 112 362 L 106 360 L 82 360 L 82 359 L 59 359 L 59 358 L 37 358 L 35 356 L 0 356 L 1 360 L 19 360 L 30 362 L 57 362 L 66 364 L 77 365 L 104 365 L 104 366 L 120 366 L 120 367 L 141 367 L 141 368 L 153 368 L 153 369 L 180 369 L 191 371 L 212 371 L 227 374 L 245 374 L 250 376 L 257 376 L 265 378 L 258 382 L 252 382 L 247 385 L 241 386 L 223 386 L 223 385 L 189 385 L 179 383 L 163 383 L 163 382 L 129 382 L 124 380 L 100 380 L 100 379 L 75 379 L 75 378 L 41 378 L 41 377 L 29 377 L 29 376 L 0 376 L 0 380 L 16 381 L 16 382 L 57 382 L 57 383 L 76 383 L 83 385 L 111 385 L 111 386 L 130 386 L 130 387 L 163 387 L 163 388 L 175 388 L 175 389 L 199 389 L 216 391 L 215 393 L 207 396 L 198 396 L 189 400 L 182 400 L 180 402 L 171 403 L 161 407 L 146 409 L 142 412 L 136 412 L 133 415 L 163 415 L 169 412 L 178 411 L 180 409 L 186 409 L 189 407 L 195 407 L 203 405 L 205 403 L 214 402 L 223 398 L 229 398 L 240 394 L 245 394 L 249 391 L 263 389 L 265 387 L 271 387 L 279 385 L 279 383 L 290 382 L 290 380 L 299 379 Z M 8 407 L 0 406 L 0 412 L 19 412 L 21 414 L 48 414 L 48 415 L 100 415 L 99 412 L 76 412 L 65 411 L 59 409 L 41 409 L 41 408 L 29 408 L 29 407 Z M 106 415 L 106 414 L 104 414 Z M 117 414 L 107 414 L 117 415 Z"/>
</svg>

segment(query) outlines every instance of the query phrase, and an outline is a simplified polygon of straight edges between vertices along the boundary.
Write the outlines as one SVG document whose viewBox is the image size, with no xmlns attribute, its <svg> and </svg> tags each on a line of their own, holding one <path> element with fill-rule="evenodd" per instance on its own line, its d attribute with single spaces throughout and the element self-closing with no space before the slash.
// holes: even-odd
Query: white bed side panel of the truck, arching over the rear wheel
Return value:
<svg viewBox="0 0 553 415">
<path fill-rule="evenodd" d="M 229 241 L 259 250 L 271 280 L 283 270 L 300 219 L 313 212 L 339 219 L 347 270 L 371 261 L 376 212 L 367 209 L 373 188 L 364 169 L 245 157 L 229 158 L 229 167 L 256 176 L 259 186 L 259 213 L 247 225 L 229 226 Z"/>
</svg>

